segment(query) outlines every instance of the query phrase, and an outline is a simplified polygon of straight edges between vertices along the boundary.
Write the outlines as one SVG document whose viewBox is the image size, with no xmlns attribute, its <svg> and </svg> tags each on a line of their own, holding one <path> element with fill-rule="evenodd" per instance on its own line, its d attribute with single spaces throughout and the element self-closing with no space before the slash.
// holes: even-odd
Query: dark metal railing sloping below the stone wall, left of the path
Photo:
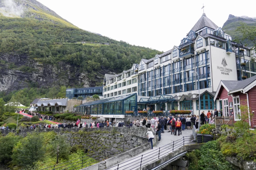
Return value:
<svg viewBox="0 0 256 170">
<path fill-rule="evenodd" d="M 127 149 L 132 149 L 140 146 L 141 144 L 146 143 L 148 140 L 147 136 L 137 137 L 134 141 L 124 142 L 115 147 L 107 148 L 102 151 L 89 154 L 86 156 L 82 156 L 80 158 L 76 158 L 73 160 L 69 160 L 67 162 L 63 162 L 60 164 L 56 164 L 47 168 L 43 168 L 41 170 L 75 170 L 75 169 L 83 169 L 85 167 L 91 166 L 102 160 L 113 157 L 114 155 L 124 153 Z"/>
</svg>

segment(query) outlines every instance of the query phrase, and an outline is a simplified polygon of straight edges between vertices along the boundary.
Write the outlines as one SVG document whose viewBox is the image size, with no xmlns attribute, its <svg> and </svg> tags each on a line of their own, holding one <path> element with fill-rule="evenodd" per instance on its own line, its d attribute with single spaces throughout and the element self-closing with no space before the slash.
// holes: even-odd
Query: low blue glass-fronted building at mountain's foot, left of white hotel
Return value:
<svg viewBox="0 0 256 170">
<path fill-rule="evenodd" d="M 66 97 L 69 99 L 99 95 L 102 96 L 103 87 L 67 88 Z"/>
</svg>

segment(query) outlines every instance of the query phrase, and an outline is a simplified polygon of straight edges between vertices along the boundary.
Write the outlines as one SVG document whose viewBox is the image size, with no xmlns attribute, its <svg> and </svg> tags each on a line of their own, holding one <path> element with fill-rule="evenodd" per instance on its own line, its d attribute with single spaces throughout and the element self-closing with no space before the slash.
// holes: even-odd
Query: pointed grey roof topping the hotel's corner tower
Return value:
<svg viewBox="0 0 256 170">
<path fill-rule="evenodd" d="M 203 15 L 201 16 L 201 18 L 197 21 L 197 23 L 195 24 L 195 26 L 191 29 L 192 31 L 198 31 L 201 28 L 204 27 L 209 27 L 212 29 L 217 29 L 218 26 L 213 23 L 209 18 L 207 18 L 207 16 L 205 15 L 205 13 L 203 13 Z"/>
</svg>

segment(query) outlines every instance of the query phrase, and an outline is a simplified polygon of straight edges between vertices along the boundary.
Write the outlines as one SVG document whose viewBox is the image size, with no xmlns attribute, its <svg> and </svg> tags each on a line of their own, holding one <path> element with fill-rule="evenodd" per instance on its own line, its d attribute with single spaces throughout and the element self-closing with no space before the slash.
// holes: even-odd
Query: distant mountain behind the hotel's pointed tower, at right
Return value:
<svg viewBox="0 0 256 170">
<path fill-rule="evenodd" d="M 222 30 L 224 30 L 225 33 L 227 33 L 228 35 L 231 35 L 232 38 L 236 38 L 238 37 L 242 37 L 241 33 L 236 32 L 237 27 L 241 26 L 241 22 L 245 23 L 249 26 L 255 26 L 256 27 L 256 17 L 254 18 L 250 18 L 247 16 L 234 16 L 229 14 L 228 16 L 228 20 L 224 23 Z M 244 45 L 246 44 L 248 47 L 253 46 L 254 44 L 252 43 L 252 41 L 249 40 L 244 40 L 242 42 Z"/>
</svg>

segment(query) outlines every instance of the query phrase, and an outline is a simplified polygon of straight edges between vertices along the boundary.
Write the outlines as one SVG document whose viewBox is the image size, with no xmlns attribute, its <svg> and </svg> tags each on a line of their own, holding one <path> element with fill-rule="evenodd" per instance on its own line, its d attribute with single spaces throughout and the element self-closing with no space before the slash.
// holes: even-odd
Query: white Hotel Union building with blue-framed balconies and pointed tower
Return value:
<svg viewBox="0 0 256 170">
<path fill-rule="evenodd" d="M 203 111 L 222 108 L 222 102 L 214 101 L 219 82 L 256 75 L 253 56 L 253 50 L 234 43 L 203 14 L 181 43 L 169 51 L 142 59 L 122 73 L 105 74 L 104 101 L 96 112 L 114 118 L 113 115 L 124 115 L 125 111 L 137 111 L 138 107 L 191 110 L 194 114 L 199 114 L 199 107 Z M 95 115 L 88 107 L 91 106 L 81 110 Z M 95 103 L 95 107 L 99 106 Z"/>
</svg>

